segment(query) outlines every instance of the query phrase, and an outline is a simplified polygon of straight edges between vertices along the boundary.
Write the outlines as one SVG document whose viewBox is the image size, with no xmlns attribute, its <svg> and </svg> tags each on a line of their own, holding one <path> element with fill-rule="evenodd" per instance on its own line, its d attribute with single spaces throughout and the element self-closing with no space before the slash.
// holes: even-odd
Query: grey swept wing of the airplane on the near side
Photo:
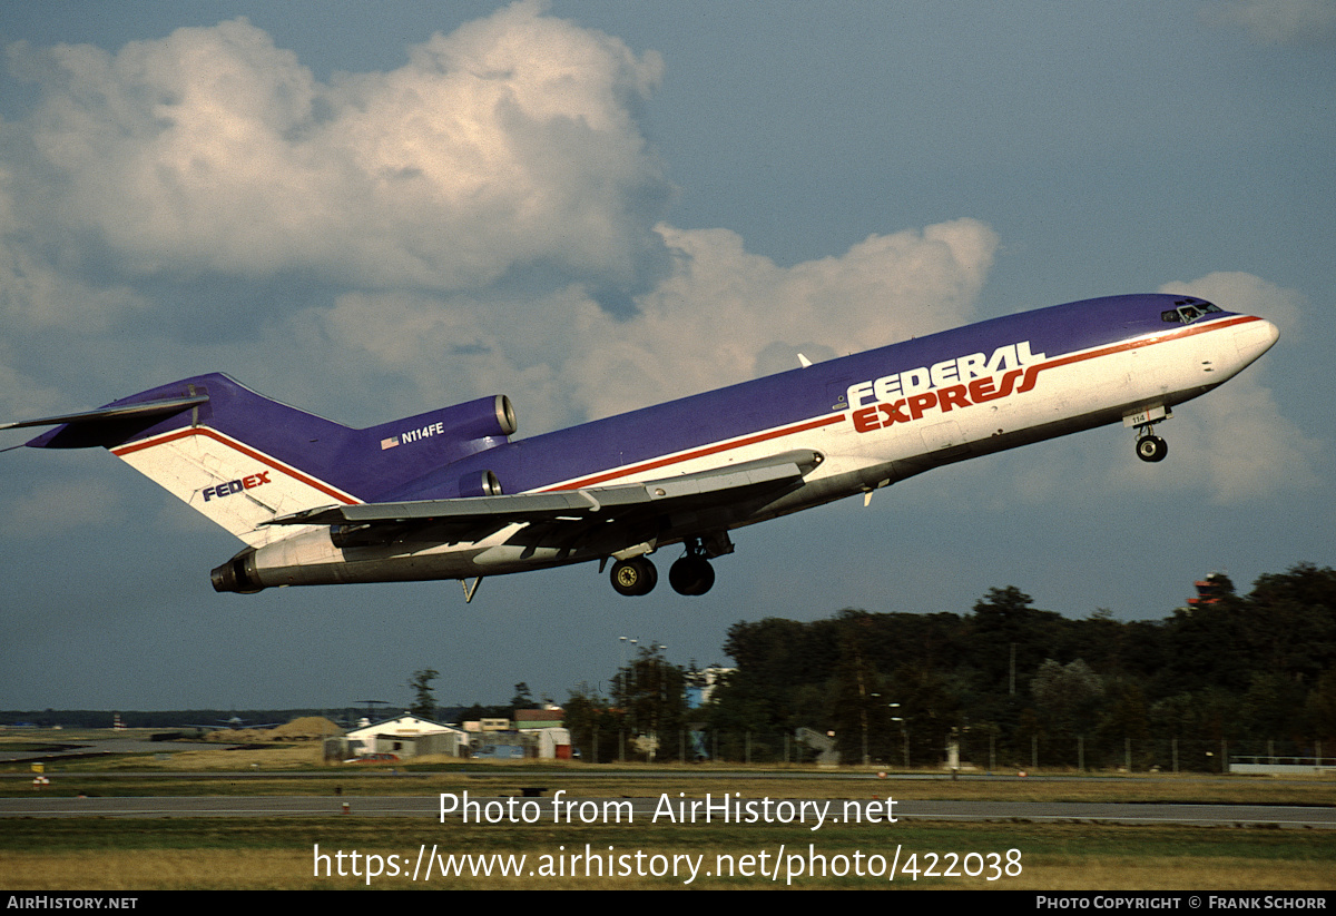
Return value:
<svg viewBox="0 0 1336 916">
<path fill-rule="evenodd" d="M 358 541 L 367 543 L 398 539 L 409 530 L 428 527 L 448 533 L 452 539 L 478 539 L 513 523 L 578 527 L 589 522 L 723 506 L 787 490 L 820 462 L 819 453 L 802 450 L 659 481 L 498 497 L 326 506 L 263 523 L 349 526 L 361 531 Z"/>
</svg>

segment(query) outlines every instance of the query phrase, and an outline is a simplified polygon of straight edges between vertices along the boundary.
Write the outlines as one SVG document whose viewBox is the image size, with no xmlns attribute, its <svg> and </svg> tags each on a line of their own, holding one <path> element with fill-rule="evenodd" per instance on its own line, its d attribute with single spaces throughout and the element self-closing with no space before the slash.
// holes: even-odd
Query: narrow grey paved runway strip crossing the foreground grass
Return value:
<svg viewBox="0 0 1336 916">
<path fill-rule="evenodd" d="M 717 798 L 717 796 L 716 796 Z M 512 800 L 506 796 L 469 796 L 476 801 L 485 820 L 512 823 L 508 815 L 518 805 L 530 803 L 526 813 L 537 815 L 542 823 L 553 823 L 553 800 Z M 578 803 L 621 805 L 631 803 L 629 812 L 637 824 L 665 823 L 660 796 L 640 798 L 578 798 Z M 679 798 L 669 801 L 676 805 Z M 691 798 L 688 798 L 691 801 Z M 747 801 L 747 800 L 744 800 Z M 811 804 L 811 800 L 806 800 Z M 496 803 L 489 807 L 489 803 Z M 802 804 L 794 800 L 794 805 Z M 870 809 L 867 805 L 878 805 Z M 862 823 L 886 823 L 884 801 L 831 800 L 827 809 L 828 824 L 859 819 Z M 783 808 L 772 800 L 772 809 L 756 820 L 758 825 L 804 821 L 796 820 L 792 807 Z M 601 808 L 600 808 L 601 809 Z M 486 813 L 490 812 L 492 817 Z M 0 798 L 0 817 L 425 817 L 441 820 L 441 797 L 433 796 L 144 796 L 144 797 L 23 797 Z M 1336 828 L 1336 808 L 1303 805 L 1178 805 L 1178 804 L 1097 804 L 1097 803 L 1022 803 L 1022 801 L 895 801 L 890 816 L 900 821 L 1029 821 L 1029 823 L 1108 823 L 1108 824 L 1174 824 L 1198 827 L 1273 827 L 1273 828 Z M 516 819 L 520 815 L 514 815 Z M 795 820 L 784 820 L 795 817 Z M 458 821 L 450 813 L 445 821 Z M 713 823 L 723 820 L 717 813 Z M 524 823 L 517 820 L 517 823 Z M 537 821 L 536 821 L 537 823 Z M 578 813 L 573 823 L 578 823 Z M 745 820 L 743 827 L 749 825 Z M 806 821 L 811 827 L 811 821 Z"/>
</svg>

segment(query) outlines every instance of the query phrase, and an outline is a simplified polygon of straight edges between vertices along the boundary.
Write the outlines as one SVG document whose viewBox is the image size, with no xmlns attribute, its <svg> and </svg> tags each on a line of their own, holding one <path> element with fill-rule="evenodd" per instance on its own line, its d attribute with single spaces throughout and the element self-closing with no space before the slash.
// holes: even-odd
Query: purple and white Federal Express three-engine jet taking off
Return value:
<svg viewBox="0 0 1336 916">
<path fill-rule="evenodd" d="M 648 594 L 705 594 L 735 529 L 953 462 L 1121 422 L 1158 462 L 1156 426 L 1276 342 L 1271 322 L 1194 296 L 1142 294 L 994 318 L 513 441 L 489 395 L 369 429 L 196 375 L 24 445 L 100 446 L 247 546 L 216 592 L 458 580 L 599 561 Z M 19 447 L 19 446 L 12 446 Z M 469 582 L 472 580 L 472 584 Z"/>
</svg>

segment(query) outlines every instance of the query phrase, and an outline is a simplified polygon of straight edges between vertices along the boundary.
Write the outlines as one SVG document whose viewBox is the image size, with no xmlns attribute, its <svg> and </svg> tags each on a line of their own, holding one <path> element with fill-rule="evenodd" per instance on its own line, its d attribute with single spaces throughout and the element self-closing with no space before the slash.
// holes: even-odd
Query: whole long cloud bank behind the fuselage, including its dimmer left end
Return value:
<svg viewBox="0 0 1336 916">
<path fill-rule="evenodd" d="M 795 369 L 796 350 L 836 355 L 963 323 L 997 244 L 962 219 L 780 267 L 727 230 L 659 231 L 673 270 L 629 318 L 568 287 L 526 302 L 350 294 L 323 320 L 363 369 L 454 399 L 508 391 L 533 431 Z M 775 349 L 790 353 L 782 366 L 763 358 Z"/>
</svg>

